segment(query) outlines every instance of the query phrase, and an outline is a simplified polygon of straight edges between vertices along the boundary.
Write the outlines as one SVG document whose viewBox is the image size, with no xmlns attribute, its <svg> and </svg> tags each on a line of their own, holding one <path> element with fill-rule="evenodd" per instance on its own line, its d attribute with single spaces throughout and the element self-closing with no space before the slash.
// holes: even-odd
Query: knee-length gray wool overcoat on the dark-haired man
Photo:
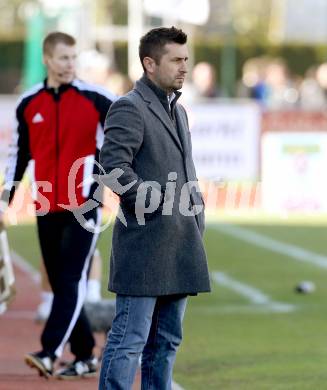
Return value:
<svg viewBox="0 0 327 390">
<path fill-rule="evenodd" d="M 156 94 L 141 79 L 111 105 L 106 118 L 100 162 L 109 174 L 104 183 L 120 195 L 109 277 L 109 290 L 118 294 L 210 291 L 202 242 L 203 200 L 187 116 L 180 104 L 175 117 L 179 134 Z M 116 171 L 112 179 L 110 174 Z M 148 181 L 156 184 L 149 187 Z M 149 212 L 153 205 L 159 206 Z"/>
</svg>

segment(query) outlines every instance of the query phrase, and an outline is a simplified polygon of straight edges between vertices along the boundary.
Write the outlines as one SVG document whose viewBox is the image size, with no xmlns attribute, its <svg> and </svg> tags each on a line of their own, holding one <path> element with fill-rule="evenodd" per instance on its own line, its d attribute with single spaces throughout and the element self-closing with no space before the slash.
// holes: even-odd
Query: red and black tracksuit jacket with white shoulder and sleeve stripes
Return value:
<svg viewBox="0 0 327 390">
<path fill-rule="evenodd" d="M 31 160 L 37 211 L 63 210 L 59 205 L 73 209 L 85 202 L 92 194 L 92 174 L 97 173 L 94 162 L 105 117 L 115 99 L 105 89 L 77 79 L 58 89 L 48 88 L 45 80 L 26 92 L 16 109 L 2 200 L 11 201 L 13 184 L 22 179 Z M 80 168 L 68 188 L 77 161 Z"/>
</svg>

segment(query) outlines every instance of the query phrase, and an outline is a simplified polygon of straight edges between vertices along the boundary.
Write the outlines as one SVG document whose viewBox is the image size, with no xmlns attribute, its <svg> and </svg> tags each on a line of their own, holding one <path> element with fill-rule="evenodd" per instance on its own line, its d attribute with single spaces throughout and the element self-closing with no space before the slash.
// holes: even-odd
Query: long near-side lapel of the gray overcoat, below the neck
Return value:
<svg viewBox="0 0 327 390">
<path fill-rule="evenodd" d="M 163 108 L 162 104 L 160 103 L 155 93 L 147 85 L 139 81 L 136 82 L 136 90 L 140 93 L 143 99 L 148 103 L 149 109 L 164 124 L 165 128 L 168 130 L 171 137 L 175 141 L 176 145 L 183 152 L 183 147 L 178 137 L 177 130 L 175 129 L 171 119 L 169 118 L 168 113 Z"/>
</svg>

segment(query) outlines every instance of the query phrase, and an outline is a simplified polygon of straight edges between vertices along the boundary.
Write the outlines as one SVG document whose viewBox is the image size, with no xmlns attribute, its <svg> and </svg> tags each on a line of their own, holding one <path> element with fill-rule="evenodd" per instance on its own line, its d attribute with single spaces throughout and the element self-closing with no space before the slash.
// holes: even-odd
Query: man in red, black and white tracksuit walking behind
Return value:
<svg viewBox="0 0 327 390">
<path fill-rule="evenodd" d="M 41 335 L 42 349 L 27 354 L 25 361 L 43 376 L 71 379 L 96 373 L 95 343 L 83 302 L 100 208 L 94 207 L 99 204 L 95 202 L 88 210 L 82 208 L 97 190 L 95 162 L 115 97 L 75 79 L 76 47 L 70 35 L 49 34 L 43 42 L 43 59 L 47 79 L 26 92 L 17 105 L 1 199 L 11 202 L 15 184 L 30 162 L 38 236 L 54 300 Z M 85 223 L 75 218 L 80 211 Z M 75 361 L 54 373 L 53 363 L 67 342 Z"/>
</svg>

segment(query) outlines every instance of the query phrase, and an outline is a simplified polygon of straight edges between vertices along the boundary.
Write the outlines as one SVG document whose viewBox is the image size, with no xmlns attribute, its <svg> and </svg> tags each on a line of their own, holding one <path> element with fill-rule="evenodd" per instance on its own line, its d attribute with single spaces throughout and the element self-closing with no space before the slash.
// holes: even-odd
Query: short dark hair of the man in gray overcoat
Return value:
<svg viewBox="0 0 327 390">
<path fill-rule="evenodd" d="M 144 57 L 151 57 L 156 64 L 160 63 L 160 59 L 164 54 L 164 46 L 167 43 L 179 43 L 184 45 L 187 41 L 187 35 L 176 27 L 159 27 L 147 32 L 140 40 L 139 57 L 143 69 Z"/>
</svg>

